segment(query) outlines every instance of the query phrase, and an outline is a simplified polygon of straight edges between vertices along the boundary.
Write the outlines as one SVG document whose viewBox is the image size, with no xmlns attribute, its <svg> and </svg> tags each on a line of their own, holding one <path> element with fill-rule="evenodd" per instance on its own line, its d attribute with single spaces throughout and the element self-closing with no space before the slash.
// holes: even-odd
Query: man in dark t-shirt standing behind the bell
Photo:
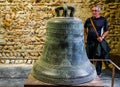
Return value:
<svg viewBox="0 0 120 87">
<path fill-rule="evenodd" d="M 87 43 L 86 43 L 86 52 L 89 59 L 104 59 L 104 55 L 96 56 L 96 46 L 99 42 L 102 42 L 105 37 L 108 35 L 108 23 L 106 18 L 100 15 L 100 7 L 94 5 L 91 8 L 92 11 L 92 17 L 91 20 L 93 21 L 93 24 L 95 25 L 95 28 L 98 32 L 98 35 L 96 35 L 96 32 L 94 31 L 94 27 L 90 21 L 90 18 L 88 18 L 85 21 L 84 28 L 85 33 L 87 34 Z M 96 62 L 96 71 L 97 75 L 101 75 L 102 72 L 102 61 Z"/>
</svg>

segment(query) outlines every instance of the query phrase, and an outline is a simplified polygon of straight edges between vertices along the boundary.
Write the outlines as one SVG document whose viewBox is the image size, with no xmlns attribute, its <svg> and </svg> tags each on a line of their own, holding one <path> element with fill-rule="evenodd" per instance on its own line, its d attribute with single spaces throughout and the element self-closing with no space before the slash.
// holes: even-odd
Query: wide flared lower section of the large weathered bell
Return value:
<svg viewBox="0 0 120 87">
<path fill-rule="evenodd" d="M 91 69 L 82 70 L 81 68 L 74 67 L 60 67 L 55 68 L 49 65 L 44 64 L 44 66 L 38 63 L 35 64 L 31 75 L 39 81 L 50 83 L 50 84 L 57 84 L 57 85 L 77 85 L 90 82 L 94 80 L 97 76 L 96 71 L 91 64 Z M 46 67 L 47 66 L 47 67 Z M 80 67 L 84 67 L 80 66 Z M 50 68 L 51 67 L 51 68 Z M 89 72 L 88 72 L 89 71 Z"/>
</svg>

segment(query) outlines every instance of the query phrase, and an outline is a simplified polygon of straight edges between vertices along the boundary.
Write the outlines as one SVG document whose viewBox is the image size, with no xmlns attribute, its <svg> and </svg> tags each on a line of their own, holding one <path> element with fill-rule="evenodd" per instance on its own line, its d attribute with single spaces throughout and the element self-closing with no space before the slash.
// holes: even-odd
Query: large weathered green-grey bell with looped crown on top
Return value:
<svg viewBox="0 0 120 87">
<path fill-rule="evenodd" d="M 62 16 L 60 10 L 63 10 Z M 92 81 L 96 70 L 86 55 L 82 21 L 73 17 L 75 8 L 72 6 L 57 7 L 55 11 L 58 17 L 47 22 L 44 50 L 33 65 L 31 75 L 57 85 Z"/>
</svg>

